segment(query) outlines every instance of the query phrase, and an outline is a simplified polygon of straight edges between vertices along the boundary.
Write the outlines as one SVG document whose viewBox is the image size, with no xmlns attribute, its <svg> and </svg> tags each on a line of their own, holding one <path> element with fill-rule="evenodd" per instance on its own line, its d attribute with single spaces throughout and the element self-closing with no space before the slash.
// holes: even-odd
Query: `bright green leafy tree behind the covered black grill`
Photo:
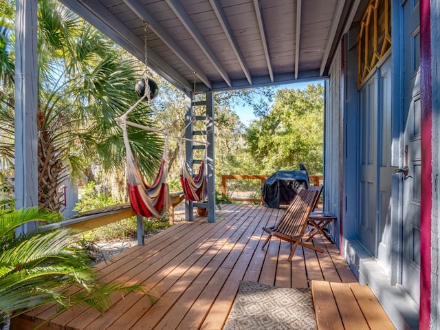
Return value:
<svg viewBox="0 0 440 330">
<path fill-rule="evenodd" d="M 324 87 L 280 89 L 270 112 L 246 131 L 249 152 L 261 172 L 297 169 L 322 173 Z"/>
</svg>

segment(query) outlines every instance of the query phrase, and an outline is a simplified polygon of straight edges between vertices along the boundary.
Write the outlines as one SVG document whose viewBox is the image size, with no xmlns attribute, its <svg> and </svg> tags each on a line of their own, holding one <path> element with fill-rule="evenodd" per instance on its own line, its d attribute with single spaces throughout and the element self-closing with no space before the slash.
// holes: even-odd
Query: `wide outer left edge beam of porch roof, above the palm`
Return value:
<svg viewBox="0 0 440 330">
<path fill-rule="evenodd" d="M 110 39 L 123 47 L 124 50 L 133 54 L 140 61 L 144 61 L 144 43 L 98 1 L 87 1 L 87 4 L 80 4 L 77 0 L 60 1 L 80 17 L 83 17 L 85 21 L 94 25 L 100 32 L 109 36 Z M 149 48 L 147 60 L 148 66 L 151 69 L 177 88 L 181 90 L 192 89 L 191 84 L 188 83 L 184 76 L 181 76 L 181 74 Z"/>
</svg>

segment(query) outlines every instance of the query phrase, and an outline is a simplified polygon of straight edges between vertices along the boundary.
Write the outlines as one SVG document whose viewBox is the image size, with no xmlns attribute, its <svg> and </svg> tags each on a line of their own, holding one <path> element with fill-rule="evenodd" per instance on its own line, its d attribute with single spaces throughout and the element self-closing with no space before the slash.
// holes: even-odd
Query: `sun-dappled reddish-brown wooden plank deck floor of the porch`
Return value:
<svg viewBox="0 0 440 330">
<path fill-rule="evenodd" d="M 39 308 L 15 319 L 12 329 L 221 329 L 234 302 L 239 280 L 283 287 L 307 287 L 311 280 L 355 283 L 335 245 L 314 238 L 324 253 L 298 248 L 287 261 L 290 244 L 272 239 L 261 249 L 261 228 L 274 223 L 283 210 L 228 205 L 217 222 L 206 217 L 182 221 L 98 265 L 105 281 L 141 283 L 140 293 L 113 297 L 104 315 L 75 307 L 50 319 L 54 307 Z M 46 320 L 50 319 L 49 322 Z"/>
</svg>

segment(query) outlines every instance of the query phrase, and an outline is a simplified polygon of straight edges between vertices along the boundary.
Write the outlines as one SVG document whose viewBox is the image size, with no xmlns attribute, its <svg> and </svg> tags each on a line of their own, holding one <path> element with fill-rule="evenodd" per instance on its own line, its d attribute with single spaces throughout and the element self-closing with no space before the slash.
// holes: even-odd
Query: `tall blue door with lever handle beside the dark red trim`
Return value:
<svg viewBox="0 0 440 330">
<path fill-rule="evenodd" d="M 402 285 L 419 303 L 420 296 L 420 72 L 419 4 L 404 4 L 404 166 Z"/>
</svg>

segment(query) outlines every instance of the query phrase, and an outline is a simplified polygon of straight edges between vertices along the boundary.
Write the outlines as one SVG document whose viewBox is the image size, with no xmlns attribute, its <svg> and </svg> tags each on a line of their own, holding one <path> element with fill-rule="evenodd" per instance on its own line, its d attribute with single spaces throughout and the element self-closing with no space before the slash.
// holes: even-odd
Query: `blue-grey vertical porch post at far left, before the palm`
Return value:
<svg viewBox="0 0 440 330">
<path fill-rule="evenodd" d="M 15 33 L 15 207 L 38 206 L 37 111 L 37 3 L 16 1 Z M 37 223 L 17 230 L 29 232 Z"/>
</svg>

